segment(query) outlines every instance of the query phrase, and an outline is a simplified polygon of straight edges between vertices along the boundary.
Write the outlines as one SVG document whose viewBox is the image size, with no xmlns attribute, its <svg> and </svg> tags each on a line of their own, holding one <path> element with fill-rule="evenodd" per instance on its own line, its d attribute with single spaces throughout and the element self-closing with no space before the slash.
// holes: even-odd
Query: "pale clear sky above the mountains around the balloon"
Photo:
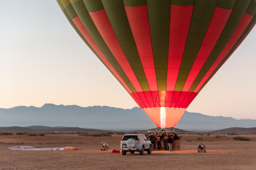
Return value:
<svg viewBox="0 0 256 170">
<path fill-rule="evenodd" d="M 0 16 L 0 108 L 137 106 L 55 0 L 0 0 Z M 253 28 L 187 111 L 256 119 L 255 40 Z"/>
</svg>

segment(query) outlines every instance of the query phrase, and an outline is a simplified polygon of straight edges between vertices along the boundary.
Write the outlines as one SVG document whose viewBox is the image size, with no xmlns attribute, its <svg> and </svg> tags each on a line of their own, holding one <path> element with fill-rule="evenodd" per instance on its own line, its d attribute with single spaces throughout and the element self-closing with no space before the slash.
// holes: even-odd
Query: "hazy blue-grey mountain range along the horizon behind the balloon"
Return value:
<svg viewBox="0 0 256 170">
<path fill-rule="evenodd" d="M 45 104 L 41 108 L 17 106 L 0 108 L 0 127 L 19 126 L 33 129 L 33 125 L 50 128 L 83 127 L 103 130 L 146 130 L 155 125 L 140 108 L 122 109 L 108 106 L 80 107 L 77 105 Z M 58 127 L 56 127 L 58 126 Z M 188 131 L 212 131 L 229 127 L 256 127 L 256 120 L 207 116 L 185 112 L 177 128 Z M 39 129 L 46 129 L 37 127 Z M 25 130 L 26 131 L 26 130 Z"/>
</svg>

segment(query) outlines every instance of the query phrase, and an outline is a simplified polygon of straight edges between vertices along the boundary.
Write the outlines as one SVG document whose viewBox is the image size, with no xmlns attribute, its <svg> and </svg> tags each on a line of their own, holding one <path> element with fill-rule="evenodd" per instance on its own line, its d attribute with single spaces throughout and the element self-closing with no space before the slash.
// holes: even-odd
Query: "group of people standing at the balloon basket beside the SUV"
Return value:
<svg viewBox="0 0 256 170">
<path fill-rule="evenodd" d="M 157 134 L 153 134 L 150 133 L 148 135 L 148 138 L 150 139 L 151 143 L 154 144 L 154 150 L 156 148 L 156 144 L 157 144 L 157 148 L 158 150 L 161 149 L 161 141 L 163 141 L 163 148 L 164 150 L 169 150 L 172 151 L 172 143 L 173 140 L 175 139 L 180 139 L 180 135 L 178 136 L 176 133 L 173 132 L 173 134 L 166 134 L 166 133 L 157 133 Z"/>
</svg>

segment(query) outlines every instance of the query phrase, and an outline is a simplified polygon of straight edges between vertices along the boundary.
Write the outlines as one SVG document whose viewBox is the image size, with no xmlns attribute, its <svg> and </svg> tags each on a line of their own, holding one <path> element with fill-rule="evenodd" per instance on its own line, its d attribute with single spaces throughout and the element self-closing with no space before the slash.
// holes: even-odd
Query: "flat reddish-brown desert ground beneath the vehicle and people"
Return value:
<svg viewBox="0 0 256 170">
<path fill-rule="evenodd" d="M 256 170 L 256 134 L 240 134 L 250 141 L 233 140 L 231 135 L 183 134 L 181 150 L 155 150 L 123 156 L 111 153 L 120 149 L 122 135 L 78 136 L 47 134 L 45 136 L 0 136 L 0 170 Z M 203 140 L 198 140 L 201 137 Z M 191 141 L 191 142 L 190 142 Z M 101 142 L 108 142 L 108 151 L 101 151 Z M 197 144 L 205 143 L 206 153 L 197 153 Z M 78 147 L 81 150 L 15 151 L 15 145 L 41 147 Z"/>
</svg>

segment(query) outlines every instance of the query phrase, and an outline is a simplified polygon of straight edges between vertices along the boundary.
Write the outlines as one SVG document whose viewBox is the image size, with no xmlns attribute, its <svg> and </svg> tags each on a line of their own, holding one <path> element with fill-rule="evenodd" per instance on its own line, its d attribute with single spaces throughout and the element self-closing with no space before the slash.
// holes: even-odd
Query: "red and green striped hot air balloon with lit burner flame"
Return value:
<svg viewBox="0 0 256 170">
<path fill-rule="evenodd" d="M 154 122 L 174 127 L 256 23 L 256 0 L 57 0 Z"/>
</svg>

